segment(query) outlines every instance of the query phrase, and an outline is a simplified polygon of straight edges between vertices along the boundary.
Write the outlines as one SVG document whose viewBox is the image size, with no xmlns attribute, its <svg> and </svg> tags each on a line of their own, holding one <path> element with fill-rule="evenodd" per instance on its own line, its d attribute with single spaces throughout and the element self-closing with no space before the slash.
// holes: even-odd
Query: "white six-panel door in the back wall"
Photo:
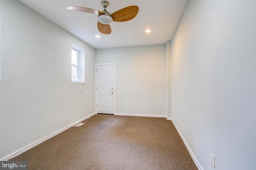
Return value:
<svg viewBox="0 0 256 170">
<path fill-rule="evenodd" d="M 114 114 L 114 65 L 97 65 L 97 112 Z"/>
</svg>

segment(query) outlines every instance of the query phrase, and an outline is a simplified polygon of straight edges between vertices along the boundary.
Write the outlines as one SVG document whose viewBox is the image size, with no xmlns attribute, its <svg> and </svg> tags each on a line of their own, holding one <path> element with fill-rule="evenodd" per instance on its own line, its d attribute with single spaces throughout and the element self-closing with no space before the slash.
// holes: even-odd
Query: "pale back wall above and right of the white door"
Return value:
<svg viewBox="0 0 256 170">
<path fill-rule="evenodd" d="M 96 49 L 96 63 L 116 63 L 116 113 L 166 115 L 165 44 Z"/>
</svg>

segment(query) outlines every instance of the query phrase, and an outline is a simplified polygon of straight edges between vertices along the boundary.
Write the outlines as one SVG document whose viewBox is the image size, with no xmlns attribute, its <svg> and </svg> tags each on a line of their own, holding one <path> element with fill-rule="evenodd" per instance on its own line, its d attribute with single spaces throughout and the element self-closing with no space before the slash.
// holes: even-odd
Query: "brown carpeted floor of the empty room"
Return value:
<svg viewBox="0 0 256 170">
<path fill-rule="evenodd" d="M 171 121 L 94 115 L 12 158 L 29 170 L 197 170 Z"/>
</svg>

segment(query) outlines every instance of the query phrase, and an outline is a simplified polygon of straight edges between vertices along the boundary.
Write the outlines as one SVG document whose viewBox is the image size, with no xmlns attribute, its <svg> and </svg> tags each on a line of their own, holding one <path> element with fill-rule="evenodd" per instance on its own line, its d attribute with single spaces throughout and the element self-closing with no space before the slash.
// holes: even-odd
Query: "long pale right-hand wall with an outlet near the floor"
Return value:
<svg viewBox="0 0 256 170">
<path fill-rule="evenodd" d="M 172 39 L 172 119 L 204 170 L 256 169 L 256 1 L 190 0 Z"/>
</svg>

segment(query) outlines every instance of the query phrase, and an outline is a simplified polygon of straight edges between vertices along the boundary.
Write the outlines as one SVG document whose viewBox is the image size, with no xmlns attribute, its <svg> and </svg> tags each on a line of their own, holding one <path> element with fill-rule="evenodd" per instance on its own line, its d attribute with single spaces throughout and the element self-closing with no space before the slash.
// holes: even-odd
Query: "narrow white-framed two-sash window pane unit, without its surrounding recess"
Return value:
<svg viewBox="0 0 256 170">
<path fill-rule="evenodd" d="M 71 81 L 79 81 L 80 51 L 74 48 L 71 51 Z"/>
</svg>

